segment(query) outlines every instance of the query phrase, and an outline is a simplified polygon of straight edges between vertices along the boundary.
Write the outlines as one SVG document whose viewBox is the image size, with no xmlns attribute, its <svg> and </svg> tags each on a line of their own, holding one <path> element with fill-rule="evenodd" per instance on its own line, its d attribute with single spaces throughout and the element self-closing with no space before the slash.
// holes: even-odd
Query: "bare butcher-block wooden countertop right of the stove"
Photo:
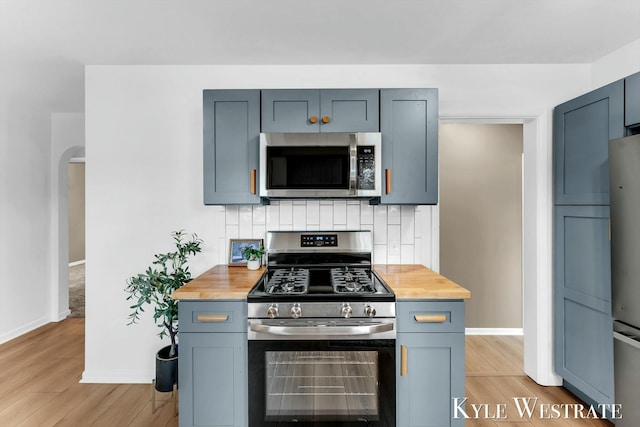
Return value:
<svg viewBox="0 0 640 427">
<path fill-rule="evenodd" d="M 471 292 L 421 264 L 376 264 L 396 300 L 469 299 Z"/>
</svg>

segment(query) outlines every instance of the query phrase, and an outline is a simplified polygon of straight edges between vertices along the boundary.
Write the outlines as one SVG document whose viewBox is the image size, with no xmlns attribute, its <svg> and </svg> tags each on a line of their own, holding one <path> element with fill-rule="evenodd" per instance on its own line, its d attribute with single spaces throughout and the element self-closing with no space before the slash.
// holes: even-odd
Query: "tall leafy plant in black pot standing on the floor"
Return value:
<svg viewBox="0 0 640 427">
<path fill-rule="evenodd" d="M 172 391 L 178 379 L 178 301 L 171 298 L 173 292 L 191 281 L 191 272 L 187 265 L 190 255 L 201 251 L 202 240 L 195 234 L 191 240 L 184 241 L 184 230 L 171 233 L 176 245 L 173 252 L 155 254 L 152 265 L 144 273 L 127 279 L 125 291 L 127 300 L 133 300 L 130 306 L 129 325 L 137 323 L 144 307 L 154 309 L 153 319 L 160 329 L 160 338 L 169 336 L 171 345 L 156 354 L 156 382 L 158 391 Z"/>
</svg>

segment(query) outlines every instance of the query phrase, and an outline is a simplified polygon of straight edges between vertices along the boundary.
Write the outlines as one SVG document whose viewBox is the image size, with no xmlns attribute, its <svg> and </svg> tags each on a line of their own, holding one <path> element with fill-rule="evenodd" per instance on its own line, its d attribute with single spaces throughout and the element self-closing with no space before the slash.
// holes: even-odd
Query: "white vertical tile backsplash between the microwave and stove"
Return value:
<svg viewBox="0 0 640 427">
<path fill-rule="evenodd" d="M 276 200 L 266 206 L 223 207 L 218 248 L 227 262 L 229 239 L 264 239 L 268 230 L 371 230 L 376 264 L 431 267 L 432 216 L 437 206 L 369 205 L 358 200 Z M 433 267 L 432 267 L 433 268 Z"/>
</svg>

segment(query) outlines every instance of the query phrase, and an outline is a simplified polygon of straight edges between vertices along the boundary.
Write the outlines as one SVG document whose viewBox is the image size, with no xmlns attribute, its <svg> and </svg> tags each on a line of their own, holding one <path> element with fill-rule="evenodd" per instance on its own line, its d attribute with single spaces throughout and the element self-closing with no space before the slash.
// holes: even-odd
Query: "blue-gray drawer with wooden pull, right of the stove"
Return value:
<svg viewBox="0 0 640 427">
<path fill-rule="evenodd" d="M 464 332 L 464 301 L 396 302 L 398 332 Z"/>
</svg>

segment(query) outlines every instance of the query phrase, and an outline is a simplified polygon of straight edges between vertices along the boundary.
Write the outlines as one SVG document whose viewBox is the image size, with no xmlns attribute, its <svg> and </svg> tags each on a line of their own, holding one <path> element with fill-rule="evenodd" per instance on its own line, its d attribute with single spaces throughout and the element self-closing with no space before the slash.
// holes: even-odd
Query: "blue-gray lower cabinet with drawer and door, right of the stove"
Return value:
<svg viewBox="0 0 640 427">
<path fill-rule="evenodd" d="M 464 301 L 398 301 L 397 425 L 464 426 L 453 399 L 465 395 Z"/>
</svg>

